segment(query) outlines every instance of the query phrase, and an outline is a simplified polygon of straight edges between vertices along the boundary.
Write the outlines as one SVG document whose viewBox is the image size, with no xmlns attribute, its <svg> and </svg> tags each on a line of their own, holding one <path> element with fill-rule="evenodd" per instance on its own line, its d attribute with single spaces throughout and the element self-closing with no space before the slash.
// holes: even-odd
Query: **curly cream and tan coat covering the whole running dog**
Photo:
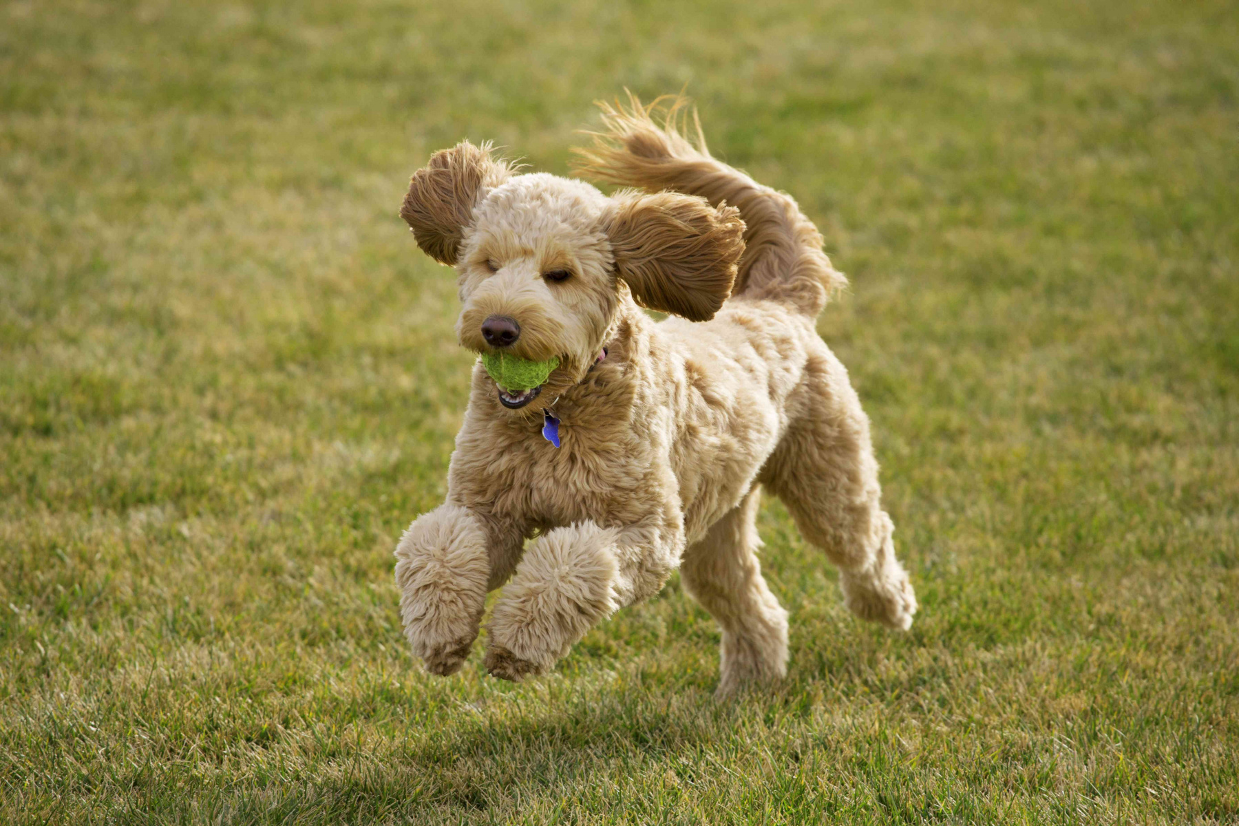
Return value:
<svg viewBox="0 0 1239 826">
<path fill-rule="evenodd" d="M 461 343 L 487 352 L 481 323 L 504 315 L 522 331 L 513 353 L 560 358 L 520 410 L 473 370 L 447 503 L 396 550 L 405 630 L 431 671 L 460 667 L 486 592 L 509 578 L 486 666 L 519 680 L 680 567 L 722 628 L 719 693 L 777 680 L 787 612 L 757 561 L 761 487 L 839 566 L 852 612 L 912 622 L 869 420 L 814 329 L 843 276 L 790 197 L 680 135 L 678 107 L 662 125 L 636 99 L 608 108 L 585 154 L 593 175 L 650 194 L 501 175 L 467 145 L 436 166 L 460 182 L 410 187 L 403 213 L 440 215 L 434 232 L 449 239 L 418 238 L 456 264 Z M 553 270 L 571 276 L 543 277 Z M 636 298 L 681 317 L 655 323 Z M 540 436 L 550 405 L 560 448 Z"/>
</svg>

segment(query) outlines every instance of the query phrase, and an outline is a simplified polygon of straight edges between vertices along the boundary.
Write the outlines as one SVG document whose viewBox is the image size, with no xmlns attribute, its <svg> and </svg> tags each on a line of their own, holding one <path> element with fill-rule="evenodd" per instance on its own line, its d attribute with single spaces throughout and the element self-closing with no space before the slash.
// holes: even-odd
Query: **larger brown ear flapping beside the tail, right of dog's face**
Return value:
<svg viewBox="0 0 1239 826">
<path fill-rule="evenodd" d="M 745 251 L 745 222 L 735 207 L 679 192 L 620 193 L 602 229 L 617 275 L 643 307 L 709 321 L 731 295 Z"/>
</svg>

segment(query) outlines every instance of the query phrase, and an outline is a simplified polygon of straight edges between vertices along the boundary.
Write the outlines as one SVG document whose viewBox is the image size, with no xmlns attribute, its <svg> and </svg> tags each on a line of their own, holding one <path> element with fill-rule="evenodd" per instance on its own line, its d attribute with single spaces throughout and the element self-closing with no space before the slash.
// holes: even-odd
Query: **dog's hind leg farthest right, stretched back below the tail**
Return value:
<svg viewBox="0 0 1239 826">
<path fill-rule="evenodd" d="M 804 539 L 839 566 L 844 604 L 862 619 L 906 630 L 917 599 L 881 506 L 869 417 L 847 370 L 824 344 L 810 357 L 788 412 L 792 422 L 762 483 L 783 500 Z"/>
</svg>

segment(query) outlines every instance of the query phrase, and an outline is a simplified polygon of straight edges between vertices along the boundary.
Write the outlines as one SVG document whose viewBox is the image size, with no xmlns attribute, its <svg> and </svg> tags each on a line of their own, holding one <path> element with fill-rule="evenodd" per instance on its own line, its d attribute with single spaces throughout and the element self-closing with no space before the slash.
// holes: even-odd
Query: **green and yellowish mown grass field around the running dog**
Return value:
<svg viewBox="0 0 1239 826">
<path fill-rule="evenodd" d="M 771 500 L 772 695 L 676 578 L 429 677 L 471 358 L 408 176 L 685 84 L 851 279 L 917 623 Z M 4 2 L 0 822 L 1239 821 L 1237 192 L 1222 0 Z"/>
</svg>

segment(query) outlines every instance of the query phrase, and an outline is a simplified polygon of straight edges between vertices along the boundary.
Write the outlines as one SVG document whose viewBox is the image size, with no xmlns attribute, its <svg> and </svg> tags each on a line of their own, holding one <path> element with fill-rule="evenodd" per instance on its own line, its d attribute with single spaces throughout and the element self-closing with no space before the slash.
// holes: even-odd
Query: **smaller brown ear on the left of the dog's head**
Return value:
<svg viewBox="0 0 1239 826">
<path fill-rule="evenodd" d="M 512 175 L 510 167 L 491 157 L 491 145 L 461 141 L 430 156 L 409 180 L 400 217 L 413 229 L 418 246 L 442 264 L 456 264 L 473 209 L 489 189 Z"/>
</svg>

